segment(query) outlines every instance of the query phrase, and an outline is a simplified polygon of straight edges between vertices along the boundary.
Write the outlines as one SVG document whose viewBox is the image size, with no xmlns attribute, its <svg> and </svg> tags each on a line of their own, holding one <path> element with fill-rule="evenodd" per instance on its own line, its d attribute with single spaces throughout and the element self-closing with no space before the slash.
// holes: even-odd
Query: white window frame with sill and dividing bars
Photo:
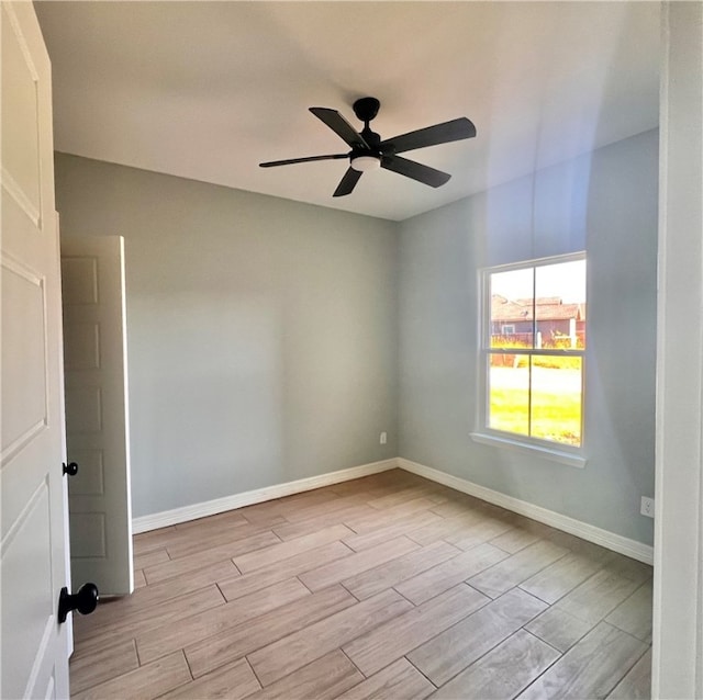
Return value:
<svg viewBox="0 0 703 700">
<path fill-rule="evenodd" d="M 532 436 L 524 436 L 504 430 L 490 428 L 489 420 L 489 358 L 491 354 L 501 352 L 501 349 L 491 348 L 491 290 L 490 275 L 496 272 L 510 272 L 511 270 L 525 270 L 528 268 L 539 268 L 561 262 L 574 260 L 585 260 L 584 251 L 566 256 L 553 256 L 549 258 L 538 258 L 535 260 L 523 260 L 520 262 L 482 268 L 479 270 L 479 329 L 478 329 L 478 381 L 477 381 L 477 408 L 476 408 L 476 430 L 470 433 L 476 442 L 489 444 L 498 448 L 506 448 L 539 455 L 547 460 L 567 464 L 569 466 L 583 467 L 587 464 L 585 458 L 585 349 L 565 348 L 550 349 L 533 348 L 520 349 L 511 348 L 511 354 L 524 354 L 527 358 L 534 354 L 556 355 L 556 357 L 579 357 L 581 358 L 581 444 L 579 447 L 563 444 L 551 440 L 544 440 Z M 533 289 L 534 297 L 534 289 Z M 587 298 L 588 303 L 588 298 Z M 535 316 L 535 314 L 533 314 Z M 587 320 L 588 324 L 588 320 Z M 533 318 L 533 337 L 537 337 L 537 319 Z M 587 330 L 588 339 L 588 330 Z M 588 345 L 588 340 L 587 340 Z M 504 352 L 504 350 L 502 350 Z"/>
</svg>

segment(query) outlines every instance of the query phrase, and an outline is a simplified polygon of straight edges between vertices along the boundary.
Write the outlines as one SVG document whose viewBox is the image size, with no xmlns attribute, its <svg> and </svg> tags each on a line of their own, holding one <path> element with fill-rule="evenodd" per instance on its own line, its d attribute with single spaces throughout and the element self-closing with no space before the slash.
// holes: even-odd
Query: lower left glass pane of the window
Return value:
<svg viewBox="0 0 703 700">
<path fill-rule="evenodd" d="M 489 354 L 488 427 L 529 434 L 529 355 Z"/>
</svg>

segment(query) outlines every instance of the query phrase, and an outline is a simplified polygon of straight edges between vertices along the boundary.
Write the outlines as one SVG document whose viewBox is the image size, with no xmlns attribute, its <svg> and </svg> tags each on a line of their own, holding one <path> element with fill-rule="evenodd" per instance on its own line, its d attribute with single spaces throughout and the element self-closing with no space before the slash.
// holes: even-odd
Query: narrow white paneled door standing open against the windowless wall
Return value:
<svg viewBox="0 0 703 700">
<path fill-rule="evenodd" d="M 133 589 L 124 239 L 62 236 L 70 565 L 102 595 Z"/>
</svg>

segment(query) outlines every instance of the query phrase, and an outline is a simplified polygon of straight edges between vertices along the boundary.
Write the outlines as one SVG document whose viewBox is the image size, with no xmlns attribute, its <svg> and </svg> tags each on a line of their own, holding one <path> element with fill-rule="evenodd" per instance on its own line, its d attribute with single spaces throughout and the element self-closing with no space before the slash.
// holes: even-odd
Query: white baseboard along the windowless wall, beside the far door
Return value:
<svg viewBox="0 0 703 700">
<path fill-rule="evenodd" d="M 138 534 L 140 532 L 157 530 L 158 528 L 167 528 L 168 526 L 178 524 L 179 522 L 214 516 L 225 510 L 234 510 L 235 508 L 260 504 L 264 500 L 282 498 L 283 496 L 300 494 L 301 492 L 312 490 L 313 488 L 341 484 L 342 482 L 348 482 L 353 478 L 360 478 L 361 476 L 369 476 L 370 474 L 378 474 L 379 472 L 386 472 L 397 467 L 398 460 L 393 458 L 383 460 L 382 462 L 371 462 L 370 464 L 352 466 L 346 470 L 339 470 L 338 472 L 331 472 L 330 474 L 321 474 L 320 476 L 309 476 L 308 478 L 300 478 L 294 482 L 287 482 L 286 484 L 265 486 L 264 488 L 256 488 L 244 492 L 243 494 L 225 496 L 224 498 L 215 498 L 214 500 L 207 500 L 204 503 L 193 504 L 192 506 L 164 510 L 150 516 L 141 516 L 133 518 L 132 532 Z"/>
</svg>

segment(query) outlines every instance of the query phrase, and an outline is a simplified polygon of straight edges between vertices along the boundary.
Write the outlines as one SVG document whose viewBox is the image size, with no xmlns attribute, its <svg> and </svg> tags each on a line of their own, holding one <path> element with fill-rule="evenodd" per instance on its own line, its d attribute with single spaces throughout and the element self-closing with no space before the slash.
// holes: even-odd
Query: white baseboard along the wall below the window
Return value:
<svg viewBox="0 0 703 700">
<path fill-rule="evenodd" d="M 491 488 L 486 488 L 486 486 L 479 486 L 478 484 L 473 484 L 472 482 L 460 478 L 459 476 L 453 476 L 451 474 L 434 470 L 431 466 L 425 466 L 424 464 L 411 462 L 403 458 L 398 458 L 398 466 L 406 472 L 412 472 L 413 474 L 424 476 L 425 478 L 437 482 L 438 484 L 449 486 L 449 488 L 455 488 L 456 490 L 469 494 L 470 496 L 476 496 L 481 500 L 500 506 L 506 510 L 512 510 L 521 516 L 532 518 L 533 520 L 557 528 L 558 530 L 562 530 L 569 534 L 574 534 L 582 540 L 600 544 L 601 546 L 612 550 L 613 552 L 624 554 L 625 556 L 629 556 L 638 562 L 644 562 L 645 564 L 652 564 L 654 562 L 654 547 L 648 544 L 643 544 L 636 540 L 631 540 L 607 530 L 602 530 L 601 528 L 596 528 L 588 522 L 569 518 L 568 516 L 555 512 L 554 510 L 543 508 L 542 506 L 535 506 L 534 504 L 529 504 L 525 500 L 520 500 L 520 498 L 514 498 L 513 496 L 506 496 L 505 494 L 501 494 L 500 492 Z"/>
</svg>

